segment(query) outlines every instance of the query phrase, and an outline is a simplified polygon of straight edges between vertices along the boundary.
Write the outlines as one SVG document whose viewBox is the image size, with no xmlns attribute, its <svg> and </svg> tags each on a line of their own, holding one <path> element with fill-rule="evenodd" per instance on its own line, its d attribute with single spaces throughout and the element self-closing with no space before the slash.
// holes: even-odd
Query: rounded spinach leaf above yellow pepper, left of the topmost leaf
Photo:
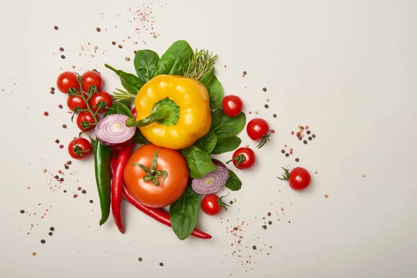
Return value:
<svg viewBox="0 0 417 278">
<path fill-rule="evenodd" d="M 158 54 L 152 50 L 145 49 L 136 51 L 133 63 L 136 73 L 142 81 L 146 83 L 156 76 L 156 72 L 158 72 L 158 61 Z"/>
</svg>

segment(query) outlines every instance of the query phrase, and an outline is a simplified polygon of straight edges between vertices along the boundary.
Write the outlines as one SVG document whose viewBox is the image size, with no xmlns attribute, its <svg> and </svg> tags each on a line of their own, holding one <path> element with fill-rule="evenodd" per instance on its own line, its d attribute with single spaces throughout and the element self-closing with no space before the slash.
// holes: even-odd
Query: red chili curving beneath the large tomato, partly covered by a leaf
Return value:
<svg viewBox="0 0 417 278">
<path fill-rule="evenodd" d="M 112 158 L 111 165 L 112 169 L 115 169 L 117 164 L 117 161 L 115 158 Z M 146 215 L 154 218 L 154 220 L 161 222 L 162 224 L 165 224 L 169 227 L 172 227 L 170 222 L 170 214 L 164 211 L 162 208 L 150 208 L 149 206 L 144 206 L 140 204 L 140 202 L 136 201 L 135 198 L 129 193 L 126 186 L 123 184 L 123 197 L 127 200 L 127 202 L 131 203 L 133 206 L 138 208 L 139 211 L 142 211 L 142 213 L 145 213 Z M 199 231 L 197 229 L 194 229 L 193 233 L 191 233 L 192 236 L 195 236 L 196 238 L 203 238 L 203 239 L 209 239 L 211 236 L 209 234 L 206 234 L 202 231 Z"/>
</svg>

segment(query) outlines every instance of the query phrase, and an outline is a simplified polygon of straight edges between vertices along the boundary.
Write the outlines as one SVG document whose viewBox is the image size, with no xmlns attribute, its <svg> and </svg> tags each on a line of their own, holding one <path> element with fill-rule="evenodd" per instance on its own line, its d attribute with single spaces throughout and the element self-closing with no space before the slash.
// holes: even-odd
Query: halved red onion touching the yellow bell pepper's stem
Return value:
<svg viewBox="0 0 417 278">
<path fill-rule="evenodd" d="M 97 139 L 108 147 L 128 144 L 136 132 L 136 127 L 126 126 L 128 118 L 123 114 L 112 114 L 101 119 L 95 128 Z"/>
</svg>

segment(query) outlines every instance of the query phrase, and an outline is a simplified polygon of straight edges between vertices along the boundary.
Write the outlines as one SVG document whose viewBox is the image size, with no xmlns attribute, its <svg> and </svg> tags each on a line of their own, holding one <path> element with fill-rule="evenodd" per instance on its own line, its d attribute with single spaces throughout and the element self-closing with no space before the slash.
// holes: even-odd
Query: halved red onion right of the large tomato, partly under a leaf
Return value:
<svg viewBox="0 0 417 278">
<path fill-rule="evenodd" d="M 217 170 L 211 171 L 201 179 L 193 179 L 191 188 L 198 194 L 207 195 L 218 192 L 224 187 L 229 179 L 229 170 L 218 160 L 213 159 L 214 165 L 218 166 Z"/>
</svg>

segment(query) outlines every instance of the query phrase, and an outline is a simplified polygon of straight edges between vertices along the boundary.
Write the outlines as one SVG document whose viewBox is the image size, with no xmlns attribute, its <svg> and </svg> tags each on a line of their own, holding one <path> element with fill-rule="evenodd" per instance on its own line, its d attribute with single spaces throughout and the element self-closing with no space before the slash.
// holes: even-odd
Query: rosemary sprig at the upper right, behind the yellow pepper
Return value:
<svg viewBox="0 0 417 278">
<path fill-rule="evenodd" d="M 206 49 L 195 49 L 194 56 L 188 62 L 188 69 L 184 69 L 184 77 L 201 79 L 208 70 L 211 70 L 217 58 L 217 55 L 213 56 L 213 52 L 208 54 Z"/>
</svg>

